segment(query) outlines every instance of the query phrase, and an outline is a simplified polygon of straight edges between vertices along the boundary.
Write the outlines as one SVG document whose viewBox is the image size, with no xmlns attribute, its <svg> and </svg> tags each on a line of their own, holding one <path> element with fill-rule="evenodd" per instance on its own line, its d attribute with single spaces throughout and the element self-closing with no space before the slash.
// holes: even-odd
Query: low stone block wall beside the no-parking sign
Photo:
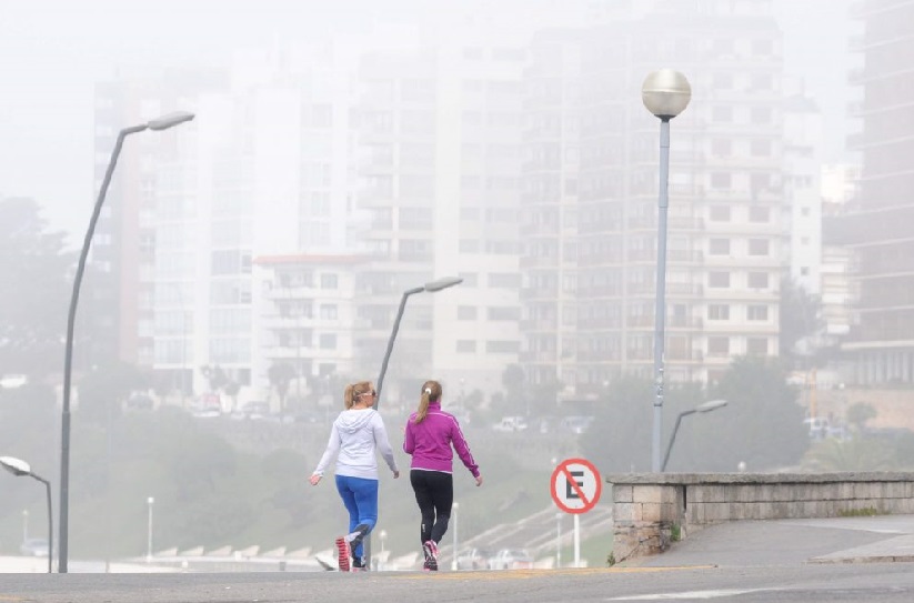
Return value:
<svg viewBox="0 0 914 603">
<path fill-rule="evenodd" d="M 607 475 L 613 560 L 663 552 L 706 525 L 743 520 L 914 513 L 914 473 Z"/>
</svg>

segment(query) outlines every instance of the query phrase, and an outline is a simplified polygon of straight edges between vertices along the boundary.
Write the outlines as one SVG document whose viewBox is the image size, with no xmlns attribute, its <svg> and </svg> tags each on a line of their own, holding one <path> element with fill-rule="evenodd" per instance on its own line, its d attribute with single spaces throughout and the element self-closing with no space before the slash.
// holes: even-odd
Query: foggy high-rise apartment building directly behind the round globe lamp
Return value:
<svg viewBox="0 0 914 603">
<path fill-rule="evenodd" d="M 523 298 L 539 379 L 585 392 L 653 373 L 659 121 L 639 93 L 660 67 L 693 89 L 672 122 L 667 379 L 713 381 L 735 355 L 776 354 L 786 238 L 770 2 L 659 2 L 644 18 L 541 36 L 532 58 L 545 77 L 530 82 L 542 125 L 529 135 L 543 161 L 525 174 L 536 238 L 521 264 L 536 269 Z"/>
</svg>

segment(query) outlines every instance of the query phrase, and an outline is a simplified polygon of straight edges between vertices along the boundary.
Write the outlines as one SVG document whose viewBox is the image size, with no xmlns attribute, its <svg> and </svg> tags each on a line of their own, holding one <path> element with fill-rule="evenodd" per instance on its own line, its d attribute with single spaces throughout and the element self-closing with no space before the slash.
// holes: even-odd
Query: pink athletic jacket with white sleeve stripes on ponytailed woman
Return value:
<svg viewBox="0 0 914 603">
<path fill-rule="evenodd" d="M 473 478 L 478 478 L 479 465 L 460 431 L 460 424 L 452 414 L 441 410 L 440 402 L 429 403 L 429 413 L 421 423 L 415 422 L 415 413 L 410 415 L 403 441 L 403 452 L 412 454 L 410 469 L 453 473 L 454 454 L 451 444 Z"/>
</svg>

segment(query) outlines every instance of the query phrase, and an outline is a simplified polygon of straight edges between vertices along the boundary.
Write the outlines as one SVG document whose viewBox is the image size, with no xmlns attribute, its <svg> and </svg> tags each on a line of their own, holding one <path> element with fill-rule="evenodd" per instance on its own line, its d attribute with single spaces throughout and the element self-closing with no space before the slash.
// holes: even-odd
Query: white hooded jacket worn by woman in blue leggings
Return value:
<svg viewBox="0 0 914 603">
<path fill-rule="evenodd" d="M 384 421 L 374 409 L 350 409 L 340 413 L 330 430 L 327 450 L 314 470 L 314 475 L 323 475 L 330 459 L 337 458 L 337 475 L 378 479 L 379 450 L 391 471 L 396 469 L 393 449 L 388 440 Z"/>
</svg>

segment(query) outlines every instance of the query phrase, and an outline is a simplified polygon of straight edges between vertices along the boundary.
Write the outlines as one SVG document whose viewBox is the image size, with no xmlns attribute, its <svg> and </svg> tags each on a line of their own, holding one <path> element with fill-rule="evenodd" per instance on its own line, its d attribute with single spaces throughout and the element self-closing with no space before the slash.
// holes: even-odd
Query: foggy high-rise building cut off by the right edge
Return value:
<svg viewBox="0 0 914 603">
<path fill-rule="evenodd" d="M 851 82 L 863 89 L 862 130 L 848 144 L 861 154 L 858 197 L 834 222 L 831 241 L 854 255 L 857 301 L 842 349 L 855 359 L 860 384 L 914 381 L 914 1 L 863 0 L 852 8 L 863 23 L 853 49 L 863 57 Z"/>
</svg>

